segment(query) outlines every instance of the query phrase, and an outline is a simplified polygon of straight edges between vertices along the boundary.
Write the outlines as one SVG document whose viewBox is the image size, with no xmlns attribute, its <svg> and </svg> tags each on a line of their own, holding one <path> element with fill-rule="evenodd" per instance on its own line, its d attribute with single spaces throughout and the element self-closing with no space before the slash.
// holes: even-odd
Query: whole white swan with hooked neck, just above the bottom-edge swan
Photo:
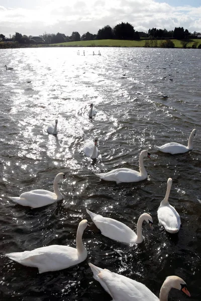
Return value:
<svg viewBox="0 0 201 301">
<path fill-rule="evenodd" d="M 153 220 L 148 213 L 143 213 L 138 219 L 137 223 L 137 235 L 124 223 L 121 223 L 113 218 L 103 217 L 102 215 L 95 214 L 89 210 L 87 213 L 90 215 L 92 221 L 101 233 L 111 239 L 124 242 L 124 243 L 141 243 L 142 237 L 142 223 L 146 221 L 152 228 Z"/>
</svg>

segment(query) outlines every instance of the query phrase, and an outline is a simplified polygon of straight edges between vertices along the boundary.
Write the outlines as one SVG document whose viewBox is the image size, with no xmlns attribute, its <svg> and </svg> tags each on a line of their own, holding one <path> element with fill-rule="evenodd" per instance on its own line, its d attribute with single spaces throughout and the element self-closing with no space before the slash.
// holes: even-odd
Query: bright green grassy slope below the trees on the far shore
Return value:
<svg viewBox="0 0 201 301">
<path fill-rule="evenodd" d="M 151 43 L 151 40 L 149 43 Z M 157 47 L 160 47 L 160 43 L 164 40 L 157 40 Z M 182 48 L 180 40 L 171 40 L 176 48 Z M 193 43 L 197 42 L 197 46 L 201 44 L 201 39 L 191 39 L 187 44 L 188 47 L 192 47 Z M 125 40 L 93 40 L 93 41 L 78 41 L 78 42 L 65 42 L 59 44 L 51 44 L 49 46 L 58 47 L 145 47 L 146 40 L 141 39 L 137 41 L 125 41 Z M 153 41 L 154 47 L 155 41 Z M 41 45 L 42 46 L 42 45 Z M 151 46 L 150 46 L 151 47 Z"/>
</svg>

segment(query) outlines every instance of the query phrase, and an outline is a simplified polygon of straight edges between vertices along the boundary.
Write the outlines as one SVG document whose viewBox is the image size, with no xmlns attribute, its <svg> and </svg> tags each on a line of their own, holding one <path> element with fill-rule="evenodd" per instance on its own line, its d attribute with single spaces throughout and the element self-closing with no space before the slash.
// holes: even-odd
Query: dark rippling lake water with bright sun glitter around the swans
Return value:
<svg viewBox="0 0 201 301">
<path fill-rule="evenodd" d="M 111 300 L 92 278 L 90 261 L 144 283 L 157 296 L 165 277 L 176 274 L 186 281 L 190 299 L 198 301 L 201 52 L 101 48 L 102 55 L 93 56 L 93 51 L 98 53 L 97 48 L 80 49 L 79 56 L 76 48 L 0 50 L 0 296 L 14 301 Z M 92 119 L 87 116 L 90 103 L 97 110 Z M 46 132 L 56 118 L 57 137 Z M 170 141 L 187 145 L 193 128 L 191 152 L 172 156 L 154 148 Z M 98 136 L 96 162 L 82 153 L 84 134 Z M 116 184 L 94 175 L 120 167 L 138 170 L 143 149 L 152 158 L 144 160 L 147 180 Z M 59 183 L 63 201 L 32 210 L 8 198 L 33 189 L 53 191 L 59 172 L 67 178 Z M 167 233 L 157 220 L 169 177 L 169 202 L 182 223 L 177 234 Z M 154 230 L 144 223 L 143 243 L 127 246 L 99 234 L 86 208 L 134 230 L 140 214 L 148 212 Z M 88 257 L 77 266 L 38 274 L 5 257 L 51 244 L 75 246 L 84 218 L 90 225 L 83 234 Z M 177 290 L 169 294 L 170 300 L 188 298 Z"/>
</svg>

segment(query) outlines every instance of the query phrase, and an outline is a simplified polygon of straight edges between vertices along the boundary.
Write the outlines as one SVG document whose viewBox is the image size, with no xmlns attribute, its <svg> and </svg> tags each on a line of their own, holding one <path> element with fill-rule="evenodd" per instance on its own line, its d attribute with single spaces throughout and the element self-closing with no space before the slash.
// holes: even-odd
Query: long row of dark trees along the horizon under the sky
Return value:
<svg viewBox="0 0 201 301">
<path fill-rule="evenodd" d="M 90 41 L 90 40 L 105 40 L 105 39 L 117 39 L 117 40 L 139 40 L 140 38 L 151 38 L 151 39 L 188 39 L 189 37 L 196 36 L 199 33 L 193 32 L 192 34 L 188 32 L 187 29 L 183 27 L 175 27 L 174 30 L 167 31 L 166 29 L 149 29 L 147 33 L 137 32 L 130 23 L 120 23 L 117 24 L 114 28 L 107 25 L 102 29 L 99 29 L 97 34 L 91 34 L 89 32 L 80 36 L 78 32 L 72 32 L 71 36 L 66 36 L 62 33 L 57 34 L 43 34 L 39 38 L 41 41 L 36 41 L 37 37 L 22 35 L 17 33 L 11 37 L 12 41 L 21 43 L 21 44 L 36 44 L 36 43 L 46 43 L 46 44 L 56 44 L 63 42 L 75 42 L 75 41 Z M 35 40 L 34 40 L 35 38 Z M 6 37 L 1 34 L 0 41 L 5 41 Z"/>
</svg>

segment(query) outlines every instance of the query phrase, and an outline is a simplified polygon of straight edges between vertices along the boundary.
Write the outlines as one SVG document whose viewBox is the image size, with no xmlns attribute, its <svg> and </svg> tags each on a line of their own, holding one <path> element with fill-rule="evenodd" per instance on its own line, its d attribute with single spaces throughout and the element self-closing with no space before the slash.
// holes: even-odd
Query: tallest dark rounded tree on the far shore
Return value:
<svg viewBox="0 0 201 301">
<path fill-rule="evenodd" d="M 134 27 L 130 23 L 122 22 L 114 27 L 114 37 L 118 40 L 134 40 L 139 38 L 139 34 L 136 36 Z"/>
</svg>

